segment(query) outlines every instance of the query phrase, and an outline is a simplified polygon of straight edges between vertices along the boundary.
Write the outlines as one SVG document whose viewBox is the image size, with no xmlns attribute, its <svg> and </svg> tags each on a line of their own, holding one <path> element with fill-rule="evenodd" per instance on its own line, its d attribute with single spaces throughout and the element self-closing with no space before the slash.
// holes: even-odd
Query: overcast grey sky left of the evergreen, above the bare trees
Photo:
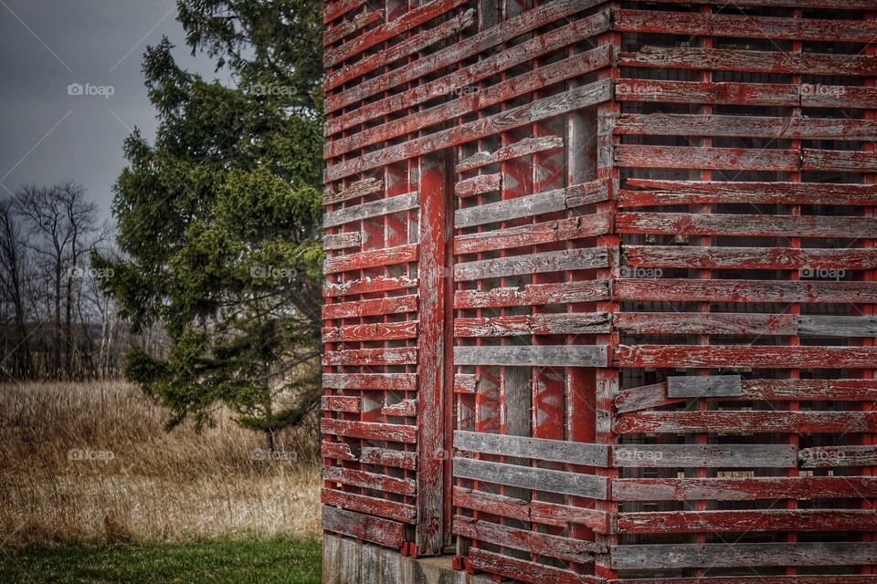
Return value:
<svg viewBox="0 0 877 584">
<path fill-rule="evenodd" d="M 146 46 L 168 36 L 178 63 L 214 77 L 175 16 L 175 0 L 0 0 L 0 196 L 69 179 L 110 216 L 122 141 L 156 126 Z"/>
</svg>

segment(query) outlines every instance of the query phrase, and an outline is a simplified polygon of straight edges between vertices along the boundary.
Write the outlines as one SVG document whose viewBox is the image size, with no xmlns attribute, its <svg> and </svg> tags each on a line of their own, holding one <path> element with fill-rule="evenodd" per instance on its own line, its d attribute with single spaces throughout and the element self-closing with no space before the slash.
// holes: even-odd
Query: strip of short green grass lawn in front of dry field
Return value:
<svg viewBox="0 0 877 584">
<path fill-rule="evenodd" d="M 320 542 L 223 540 L 0 548 L 0 582 L 319 584 Z"/>
</svg>

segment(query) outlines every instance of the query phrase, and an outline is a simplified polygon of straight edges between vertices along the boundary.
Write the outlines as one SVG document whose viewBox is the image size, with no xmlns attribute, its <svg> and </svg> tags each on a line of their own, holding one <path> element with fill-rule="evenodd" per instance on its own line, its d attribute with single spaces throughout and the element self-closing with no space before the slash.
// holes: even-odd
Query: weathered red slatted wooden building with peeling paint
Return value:
<svg viewBox="0 0 877 584">
<path fill-rule="evenodd" d="M 875 16 L 329 2 L 327 580 L 877 582 Z"/>
</svg>

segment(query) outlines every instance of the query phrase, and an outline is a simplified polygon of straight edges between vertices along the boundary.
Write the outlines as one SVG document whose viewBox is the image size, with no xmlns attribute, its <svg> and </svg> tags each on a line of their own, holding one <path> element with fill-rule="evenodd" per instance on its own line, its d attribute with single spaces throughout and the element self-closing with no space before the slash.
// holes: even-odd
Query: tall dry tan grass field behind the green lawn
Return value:
<svg viewBox="0 0 877 584">
<path fill-rule="evenodd" d="M 124 383 L 0 385 L 0 546 L 319 530 L 311 433 L 282 433 L 265 460 L 227 417 L 201 434 L 164 420 Z"/>
</svg>

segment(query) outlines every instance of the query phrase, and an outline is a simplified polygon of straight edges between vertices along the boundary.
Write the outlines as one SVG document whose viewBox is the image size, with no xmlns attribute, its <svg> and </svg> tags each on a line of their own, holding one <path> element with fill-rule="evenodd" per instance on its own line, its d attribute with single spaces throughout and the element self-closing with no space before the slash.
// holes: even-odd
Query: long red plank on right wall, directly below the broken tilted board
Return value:
<svg viewBox="0 0 877 584">
<path fill-rule="evenodd" d="M 873 433 L 877 412 L 636 412 L 620 416 L 615 432 Z"/>
</svg>

